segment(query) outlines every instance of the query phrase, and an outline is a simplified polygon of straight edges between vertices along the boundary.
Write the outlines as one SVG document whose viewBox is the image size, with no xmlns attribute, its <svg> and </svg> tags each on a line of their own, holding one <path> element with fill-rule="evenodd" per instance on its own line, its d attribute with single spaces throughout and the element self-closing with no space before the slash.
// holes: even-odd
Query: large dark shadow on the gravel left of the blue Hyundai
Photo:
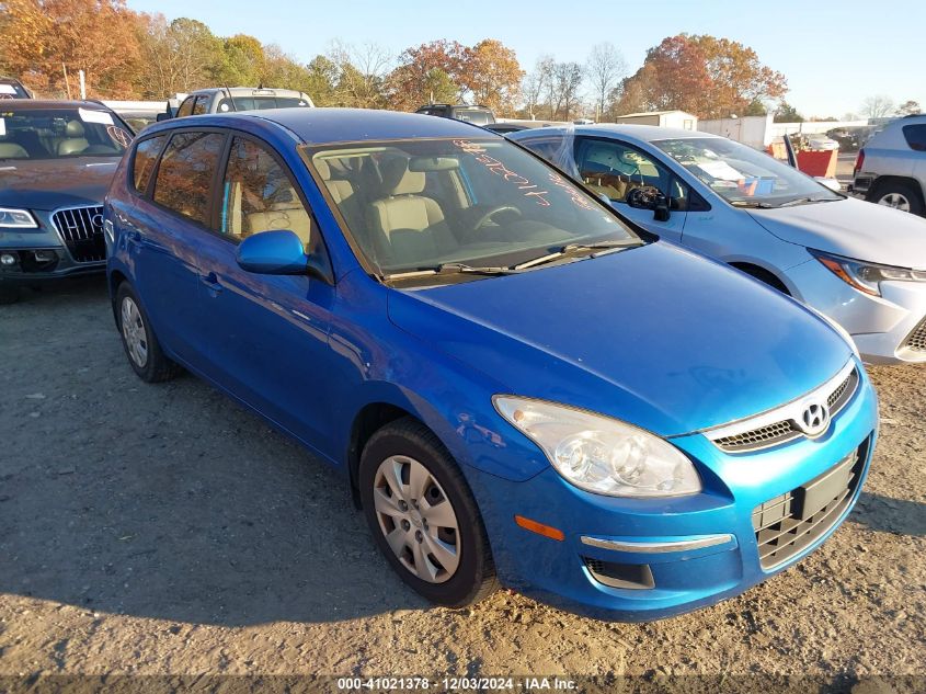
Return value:
<svg viewBox="0 0 926 694">
<path fill-rule="evenodd" d="M 0 592 L 244 626 L 423 610 L 345 477 L 209 385 L 128 367 L 102 282 L 0 307 Z"/>
</svg>

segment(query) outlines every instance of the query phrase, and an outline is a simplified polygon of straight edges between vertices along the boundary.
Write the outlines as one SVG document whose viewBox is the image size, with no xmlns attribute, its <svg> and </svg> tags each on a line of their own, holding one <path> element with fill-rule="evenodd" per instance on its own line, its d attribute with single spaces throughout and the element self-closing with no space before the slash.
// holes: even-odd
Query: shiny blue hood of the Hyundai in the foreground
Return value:
<svg viewBox="0 0 926 694">
<path fill-rule="evenodd" d="M 757 414 L 820 386 L 850 348 L 792 299 L 665 243 L 418 291 L 389 317 L 504 384 L 663 436 Z"/>
</svg>

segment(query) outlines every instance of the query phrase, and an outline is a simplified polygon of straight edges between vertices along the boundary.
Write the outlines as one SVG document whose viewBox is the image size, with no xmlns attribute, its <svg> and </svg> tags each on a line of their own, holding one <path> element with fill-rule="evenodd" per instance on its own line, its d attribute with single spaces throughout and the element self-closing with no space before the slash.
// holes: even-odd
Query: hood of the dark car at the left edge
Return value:
<svg viewBox="0 0 926 694">
<path fill-rule="evenodd" d="M 118 157 L 0 160 L 0 206 L 57 209 L 100 205 Z"/>
</svg>

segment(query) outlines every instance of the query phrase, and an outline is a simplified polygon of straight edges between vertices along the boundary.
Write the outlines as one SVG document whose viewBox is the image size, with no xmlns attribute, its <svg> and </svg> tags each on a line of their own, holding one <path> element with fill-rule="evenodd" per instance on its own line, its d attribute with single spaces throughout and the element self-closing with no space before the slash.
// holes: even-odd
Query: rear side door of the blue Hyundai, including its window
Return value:
<svg viewBox="0 0 926 694">
<path fill-rule="evenodd" d="M 198 241 L 208 234 L 225 143 L 226 135 L 215 130 L 173 132 L 135 201 L 135 228 L 128 231 L 136 286 L 155 331 L 173 355 L 199 371 L 209 342 L 199 315 Z"/>
</svg>

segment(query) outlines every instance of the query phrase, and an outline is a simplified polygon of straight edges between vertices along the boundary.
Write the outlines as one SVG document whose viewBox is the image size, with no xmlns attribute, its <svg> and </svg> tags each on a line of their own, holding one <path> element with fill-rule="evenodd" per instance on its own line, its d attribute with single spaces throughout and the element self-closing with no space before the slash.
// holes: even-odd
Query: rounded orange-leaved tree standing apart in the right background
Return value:
<svg viewBox="0 0 926 694">
<path fill-rule="evenodd" d="M 681 109 L 701 118 L 743 115 L 751 104 L 780 99 L 787 82 L 738 42 L 678 34 L 647 52 L 642 67 L 624 83 L 638 100 L 633 110 Z M 628 112 L 625 104 L 618 110 Z"/>
</svg>

